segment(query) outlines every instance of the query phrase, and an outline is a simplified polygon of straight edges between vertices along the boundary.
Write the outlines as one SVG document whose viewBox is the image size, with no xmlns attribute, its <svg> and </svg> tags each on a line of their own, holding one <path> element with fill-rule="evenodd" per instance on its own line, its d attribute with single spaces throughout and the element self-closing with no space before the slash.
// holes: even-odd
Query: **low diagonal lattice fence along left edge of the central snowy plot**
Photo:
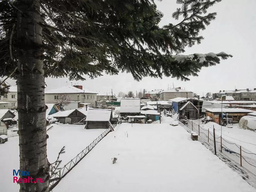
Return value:
<svg viewBox="0 0 256 192">
<path fill-rule="evenodd" d="M 112 126 L 112 127 L 111 127 Z M 64 165 L 58 172 L 52 174 L 49 180 L 49 191 L 51 191 L 60 180 L 65 177 L 94 147 L 102 140 L 109 132 L 113 131 L 114 126 L 111 125 L 109 128 L 100 134 L 95 140 L 92 141 L 84 150 L 82 150 L 77 156 L 71 159 L 67 164 Z"/>
</svg>

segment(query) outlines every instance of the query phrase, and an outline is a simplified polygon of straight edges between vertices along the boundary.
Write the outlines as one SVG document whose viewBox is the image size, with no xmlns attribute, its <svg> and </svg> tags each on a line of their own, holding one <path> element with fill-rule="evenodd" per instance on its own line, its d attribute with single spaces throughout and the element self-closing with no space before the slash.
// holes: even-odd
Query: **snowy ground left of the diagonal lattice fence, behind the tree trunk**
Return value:
<svg viewBox="0 0 256 192">
<path fill-rule="evenodd" d="M 60 149 L 65 146 L 66 153 L 60 156 L 61 167 L 87 147 L 105 129 L 84 129 L 84 125 L 53 124 L 47 132 L 47 155 L 49 162 L 54 162 Z M 14 135 L 14 134 L 13 134 Z M 9 137 L 0 144 L 0 191 L 19 191 L 19 185 L 13 183 L 12 170 L 20 168 L 19 137 Z"/>
</svg>

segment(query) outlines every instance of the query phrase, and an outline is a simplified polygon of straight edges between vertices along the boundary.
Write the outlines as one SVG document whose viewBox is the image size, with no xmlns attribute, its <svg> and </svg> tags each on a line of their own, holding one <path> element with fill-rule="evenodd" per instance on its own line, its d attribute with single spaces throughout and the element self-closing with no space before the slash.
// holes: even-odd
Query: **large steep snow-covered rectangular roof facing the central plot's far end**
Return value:
<svg viewBox="0 0 256 192">
<path fill-rule="evenodd" d="M 120 113 L 140 113 L 140 99 L 121 99 Z"/>
</svg>

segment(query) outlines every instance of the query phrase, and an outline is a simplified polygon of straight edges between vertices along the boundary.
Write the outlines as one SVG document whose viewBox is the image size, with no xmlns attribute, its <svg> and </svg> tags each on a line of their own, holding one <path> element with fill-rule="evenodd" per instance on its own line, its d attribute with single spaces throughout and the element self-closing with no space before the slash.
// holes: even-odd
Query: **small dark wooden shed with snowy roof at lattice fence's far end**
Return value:
<svg viewBox="0 0 256 192">
<path fill-rule="evenodd" d="M 112 119 L 111 109 L 90 108 L 86 117 L 85 129 L 108 129 Z"/>
</svg>

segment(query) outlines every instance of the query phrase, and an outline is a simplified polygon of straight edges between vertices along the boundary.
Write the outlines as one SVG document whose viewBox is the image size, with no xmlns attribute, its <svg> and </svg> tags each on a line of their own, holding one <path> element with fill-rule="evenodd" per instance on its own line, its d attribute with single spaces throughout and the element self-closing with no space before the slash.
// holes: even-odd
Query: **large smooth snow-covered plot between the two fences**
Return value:
<svg viewBox="0 0 256 192">
<path fill-rule="evenodd" d="M 172 121 L 117 126 L 54 192 L 256 191 L 181 126 L 170 126 Z"/>
</svg>

